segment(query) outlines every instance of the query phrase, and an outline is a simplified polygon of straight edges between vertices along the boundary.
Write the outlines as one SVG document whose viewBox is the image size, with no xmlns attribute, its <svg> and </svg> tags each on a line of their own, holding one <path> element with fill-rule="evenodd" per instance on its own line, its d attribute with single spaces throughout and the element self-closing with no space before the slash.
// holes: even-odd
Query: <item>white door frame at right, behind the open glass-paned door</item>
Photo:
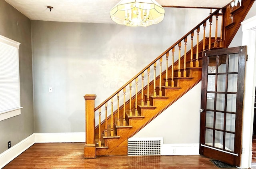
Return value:
<svg viewBox="0 0 256 169">
<path fill-rule="evenodd" d="M 256 16 L 245 20 L 242 24 L 242 46 L 247 46 L 248 62 L 246 63 L 244 116 L 242 129 L 242 157 L 240 168 L 252 165 L 252 130 L 254 117 L 254 99 L 256 86 Z M 253 78 L 252 78 L 252 72 Z"/>
</svg>

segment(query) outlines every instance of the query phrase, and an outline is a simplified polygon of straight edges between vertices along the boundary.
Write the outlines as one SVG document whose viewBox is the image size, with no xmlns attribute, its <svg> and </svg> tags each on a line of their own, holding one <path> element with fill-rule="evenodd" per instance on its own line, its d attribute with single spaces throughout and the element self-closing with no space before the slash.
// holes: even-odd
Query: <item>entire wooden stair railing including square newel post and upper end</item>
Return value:
<svg viewBox="0 0 256 169">
<path fill-rule="evenodd" d="M 93 109 L 95 102 L 91 101 L 93 99 L 95 100 L 96 95 L 85 95 L 86 121 L 89 122 L 86 122 L 84 157 L 95 157 L 96 145 L 94 132 L 92 132 L 93 134 L 87 134 L 90 132 L 87 128 L 92 130 L 92 126 L 95 126 L 95 112 L 99 113 L 99 125 L 96 126 L 95 130 L 95 133 L 98 135 L 97 144 L 98 147 L 102 147 L 102 137 L 115 137 L 114 123 L 116 123 L 116 126 L 126 126 L 128 125 L 126 116 L 143 116 L 143 114 L 140 114 L 138 111 L 138 107 L 152 106 L 150 105 L 150 94 L 151 97 L 162 97 L 162 89 L 164 87 L 176 87 L 177 84 L 174 83 L 175 76 L 190 76 L 186 69 L 188 67 L 200 66 L 202 59 L 200 52 L 211 50 L 212 48 L 227 47 L 232 40 L 232 36 L 236 34 L 239 23 L 244 19 L 254 1 L 255 0 L 243 0 L 243 2 L 241 2 L 240 0 L 237 6 L 228 4 L 222 8 L 221 13 L 220 9 L 214 11 L 96 108 Z M 244 6 L 242 3 L 244 3 L 246 9 L 243 9 Z M 244 16 L 238 15 L 236 18 L 238 18 L 239 21 L 234 22 L 233 17 L 236 13 L 239 13 L 239 11 L 245 14 Z M 220 18 L 221 24 L 218 24 Z M 202 31 L 200 32 L 200 28 L 203 30 L 203 33 Z M 231 31 L 233 32 L 232 35 L 225 33 L 226 30 L 230 31 L 231 29 L 234 30 Z M 194 32 L 196 32 L 196 37 L 194 37 Z M 214 37 L 212 37 L 212 35 L 214 35 Z M 194 38 L 196 38 L 195 46 L 193 45 Z M 175 53 L 175 48 L 178 48 L 178 54 Z M 182 54 L 184 55 L 181 57 Z M 164 56 L 166 59 L 164 59 Z M 181 73 L 182 71 L 183 74 Z M 132 93 L 134 93 L 134 95 Z M 123 105 L 120 106 L 122 102 Z M 108 103 L 111 103 L 110 116 L 110 113 L 108 113 Z M 105 119 L 103 121 L 101 119 L 102 107 L 105 107 Z M 113 111 L 114 109 L 116 109 L 116 111 Z M 102 133 L 104 133 L 104 135 Z"/>
</svg>

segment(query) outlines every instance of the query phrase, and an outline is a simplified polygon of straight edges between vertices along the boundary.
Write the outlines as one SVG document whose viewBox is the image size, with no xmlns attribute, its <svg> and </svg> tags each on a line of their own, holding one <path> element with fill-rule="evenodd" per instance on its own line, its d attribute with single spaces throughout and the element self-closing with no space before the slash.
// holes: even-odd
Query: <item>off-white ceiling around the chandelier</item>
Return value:
<svg viewBox="0 0 256 169">
<path fill-rule="evenodd" d="M 113 23 L 110 10 L 120 0 L 5 0 L 31 20 Z M 157 0 L 162 6 L 221 8 L 230 0 Z M 52 6 L 50 12 L 46 6 Z"/>
</svg>

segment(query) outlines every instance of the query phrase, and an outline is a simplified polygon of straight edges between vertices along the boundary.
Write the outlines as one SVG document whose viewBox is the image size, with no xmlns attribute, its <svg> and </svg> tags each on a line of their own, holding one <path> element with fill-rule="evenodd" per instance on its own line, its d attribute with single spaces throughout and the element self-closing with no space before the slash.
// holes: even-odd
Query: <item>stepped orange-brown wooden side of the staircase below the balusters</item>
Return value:
<svg viewBox="0 0 256 169">
<path fill-rule="evenodd" d="M 106 139 L 106 145 L 108 148 L 106 149 L 96 149 L 96 155 L 127 155 L 128 154 L 128 138 L 132 137 L 138 131 L 140 131 L 143 127 L 145 127 L 150 121 L 156 118 L 160 113 L 162 113 L 165 109 L 167 109 L 170 105 L 172 105 L 175 101 L 180 99 L 182 95 L 187 93 L 190 89 L 192 89 L 196 84 L 198 84 L 202 79 L 202 69 L 201 68 L 190 68 L 191 75 L 193 77 L 192 80 L 182 80 L 180 82 L 180 89 L 172 89 L 172 88 L 162 88 L 166 90 L 165 96 L 168 97 L 166 100 L 157 100 L 155 98 L 154 102 L 156 108 L 154 110 L 143 110 L 144 118 L 140 119 L 132 119 L 129 120 L 129 125 L 132 128 L 117 128 L 117 133 L 120 138 L 111 138 Z M 150 103 L 152 105 L 152 103 Z"/>
</svg>

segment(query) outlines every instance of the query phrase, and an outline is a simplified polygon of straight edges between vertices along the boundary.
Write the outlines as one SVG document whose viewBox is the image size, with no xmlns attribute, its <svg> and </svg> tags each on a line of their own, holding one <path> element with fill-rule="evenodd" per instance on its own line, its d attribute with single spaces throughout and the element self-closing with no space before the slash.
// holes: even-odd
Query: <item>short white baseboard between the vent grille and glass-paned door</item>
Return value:
<svg viewBox="0 0 256 169">
<path fill-rule="evenodd" d="M 161 155 L 199 155 L 199 143 L 195 144 L 163 144 Z"/>
</svg>

